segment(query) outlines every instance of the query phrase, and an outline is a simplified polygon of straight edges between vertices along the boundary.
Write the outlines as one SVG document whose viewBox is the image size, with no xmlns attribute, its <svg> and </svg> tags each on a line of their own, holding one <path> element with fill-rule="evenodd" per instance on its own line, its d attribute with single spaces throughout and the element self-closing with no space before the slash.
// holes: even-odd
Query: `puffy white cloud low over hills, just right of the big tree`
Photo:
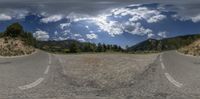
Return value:
<svg viewBox="0 0 200 99">
<path fill-rule="evenodd" d="M 47 41 L 49 39 L 49 34 L 46 31 L 38 30 L 33 35 L 37 40 Z"/>
</svg>

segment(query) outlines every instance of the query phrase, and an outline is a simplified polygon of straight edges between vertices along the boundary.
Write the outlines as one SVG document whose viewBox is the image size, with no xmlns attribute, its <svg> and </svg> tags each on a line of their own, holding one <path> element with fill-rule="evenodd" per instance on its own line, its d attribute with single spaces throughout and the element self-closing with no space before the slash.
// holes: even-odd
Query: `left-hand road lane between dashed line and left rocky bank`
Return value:
<svg viewBox="0 0 200 99">
<path fill-rule="evenodd" d="M 0 58 L 0 91 L 17 89 L 42 77 L 48 66 L 48 57 L 39 51 L 30 56 Z"/>
</svg>

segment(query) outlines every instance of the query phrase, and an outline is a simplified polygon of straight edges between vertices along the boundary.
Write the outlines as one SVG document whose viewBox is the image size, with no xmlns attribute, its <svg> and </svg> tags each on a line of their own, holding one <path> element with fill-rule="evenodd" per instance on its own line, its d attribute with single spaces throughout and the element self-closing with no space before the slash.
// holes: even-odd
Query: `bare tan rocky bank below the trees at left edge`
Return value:
<svg viewBox="0 0 200 99">
<path fill-rule="evenodd" d="M 0 56 L 20 56 L 35 52 L 32 46 L 26 45 L 19 38 L 0 38 Z"/>
</svg>

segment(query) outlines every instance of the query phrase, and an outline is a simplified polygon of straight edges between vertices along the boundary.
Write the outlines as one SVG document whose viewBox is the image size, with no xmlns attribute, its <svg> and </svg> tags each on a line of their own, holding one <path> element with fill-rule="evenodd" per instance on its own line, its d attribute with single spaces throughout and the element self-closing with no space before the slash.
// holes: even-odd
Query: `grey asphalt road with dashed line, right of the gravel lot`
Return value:
<svg viewBox="0 0 200 99">
<path fill-rule="evenodd" d="M 200 99 L 200 58 L 163 52 L 135 80 L 133 99 Z"/>
</svg>

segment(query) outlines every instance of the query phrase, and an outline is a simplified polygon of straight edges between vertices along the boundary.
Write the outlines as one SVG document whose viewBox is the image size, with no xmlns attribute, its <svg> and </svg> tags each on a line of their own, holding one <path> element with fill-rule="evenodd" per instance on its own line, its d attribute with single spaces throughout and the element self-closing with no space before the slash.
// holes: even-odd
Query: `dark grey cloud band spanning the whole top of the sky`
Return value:
<svg viewBox="0 0 200 99">
<path fill-rule="evenodd" d="M 0 12 L 8 9 L 26 9 L 48 14 L 69 14 L 71 12 L 95 15 L 109 8 L 135 3 L 172 4 L 169 10 L 180 15 L 194 16 L 200 13 L 199 0 L 0 0 Z"/>
</svg>

